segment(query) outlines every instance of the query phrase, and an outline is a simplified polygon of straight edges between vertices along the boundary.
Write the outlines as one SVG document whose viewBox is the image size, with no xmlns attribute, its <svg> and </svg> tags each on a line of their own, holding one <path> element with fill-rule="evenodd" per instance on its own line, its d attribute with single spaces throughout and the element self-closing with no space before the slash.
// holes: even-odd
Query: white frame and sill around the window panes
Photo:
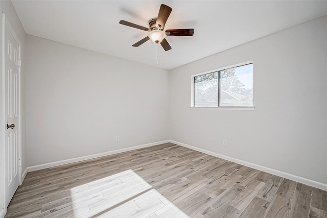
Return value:
<svg viewBox="0 0 327 218">
<path fill-rule="evenodd" d="M 254 110 L 255 109 L 254 102 L 253 102 L 253 106 L 194 107 L 194 78 L 195 77 L 204 75 L 204 74 L 211 74 L 212 72 L 221 71 L 221 70 L 229 69 L 232 67 L 239 67 L 239 66 L 243 66 L 243 65 L 247 65 L 247 64 L 253 64 L 253 61 L 247 61 L 247 62 L 234 64 L 234 65 L 230 65 L 230 66 L 226 66 L 226 67 L 221 67 L 221 68 L 206 71 L 206 72 L 201 72 L 200 74 L 192 75 L 191 76 L 191 106 L 190 106 L 190 109 L 192 109 L 192 110 Z M 220 101 L 220 100 L 218 100 L 218 101 Z"/>
</svg>

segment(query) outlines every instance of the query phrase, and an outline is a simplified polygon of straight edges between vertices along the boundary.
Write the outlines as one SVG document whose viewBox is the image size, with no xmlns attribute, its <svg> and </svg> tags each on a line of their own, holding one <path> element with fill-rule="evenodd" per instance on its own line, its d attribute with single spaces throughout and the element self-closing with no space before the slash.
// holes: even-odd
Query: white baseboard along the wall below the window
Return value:
<svg viewBox="0 0 327 218">
<path fill-rule="evenodd" d="M 251 167 L 251 168 L 254 168 L 254 169 L 258 169 L 259 171 L 263 171 L 263 172 L 266 172 L 266 173 L 269 173 L 269 174 L 280 176 L 280 177 L 283 177 L 283 178 L 286 178 L 286 179 L 293 180 L 295 182 L 299 182 L 299 183 L 302 183 L 302 184 L 305 184 L 305 185 L 310 185 L 312 187 L 320 188 L 322 190 L 327 191 L 327 184 L 324 184 L 324 183 L 321 183 L 321 182 L 317 182 L 317 181 L 310 180 L 310 179 L 307 179 L 307 178 L 295 176 L 293 174 L 285 173 L 285 172 L 282 172 L 282 171 L 277 171 L 276 169 L 268 168 L 268 167 L 261 166 L 261 165 L 258 165 L 258 164 L 254 164 L 254 163 L 250 163 L 250 162 L 247 162 L 247 161 L 244 161 L 244 160 L 239 160 L 239 159 L 228 157 L 228 156 L 225 156 L 225 155 L 221 155 L 221 154 L 218 154 L 218 153 L 215 153 L 215 152 L 200 149 L 200 148 L 190 146 L 189 144 L 185 144 L 185 143 L 182 143 L 182 142 L 178 142 L 178 141 L 174 141 L 174 140 L 168 140 L 168 141 L 171 142 L 171 143 L 174 143 L 174 144 L 178 144 L 179 146 L 182 146 L 182 147 L 185 147 L 185 148 L 189 148 L 189 149 L 192 149 L 192 150 L 195 150 L 195 151 L 198 151 L 198 152 L 202 152 L 202 153 L 205 153 L 205 154 L 208 154 L 208 155 L 219 157 L 221 159 L 228 160 L 228 161 L 231 161 L 231 162 L 234 162 L 234 163 L 239 163 L 239 164 L 244 165 L 244 166 L 248 166 L 248 167 Z"/>
</svg>

